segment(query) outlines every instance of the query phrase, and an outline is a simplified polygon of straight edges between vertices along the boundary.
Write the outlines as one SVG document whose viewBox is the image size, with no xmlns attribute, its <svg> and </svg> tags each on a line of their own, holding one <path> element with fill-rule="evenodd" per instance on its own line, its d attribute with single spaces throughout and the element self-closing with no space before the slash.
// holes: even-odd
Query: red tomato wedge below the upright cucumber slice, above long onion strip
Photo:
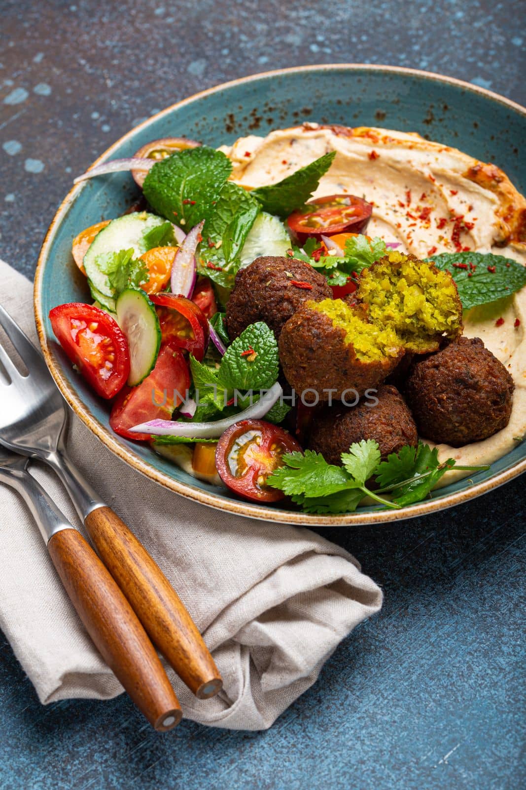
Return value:
<svg viewBox="0 0 526 790">
<path fill-rule="evenodd" d="M 151 374 L 136 387 L 126 386 L 114 402 L 110 427 L 129 439 L 149 442 L 150 434 L 132 434 L 129 428 L 149 419 L 171 419 L 190 387 L 188 365 L 182 352 L 162 345 Z"/>
</svg>

